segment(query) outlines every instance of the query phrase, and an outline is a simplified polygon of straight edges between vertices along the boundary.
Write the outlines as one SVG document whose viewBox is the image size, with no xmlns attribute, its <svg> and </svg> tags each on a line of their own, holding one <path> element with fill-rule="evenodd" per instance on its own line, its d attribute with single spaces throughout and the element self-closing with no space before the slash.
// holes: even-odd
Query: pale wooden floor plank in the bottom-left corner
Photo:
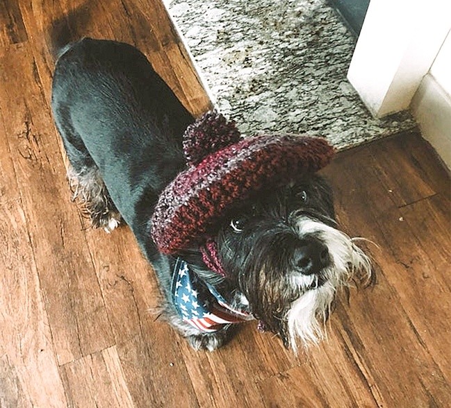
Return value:
<svg viewBox="0 0 451 408">
<path fill-rule="evenodd" d="M 19 201 L 0 205 L 0 406 L 66 405 Z"/>
</svg>

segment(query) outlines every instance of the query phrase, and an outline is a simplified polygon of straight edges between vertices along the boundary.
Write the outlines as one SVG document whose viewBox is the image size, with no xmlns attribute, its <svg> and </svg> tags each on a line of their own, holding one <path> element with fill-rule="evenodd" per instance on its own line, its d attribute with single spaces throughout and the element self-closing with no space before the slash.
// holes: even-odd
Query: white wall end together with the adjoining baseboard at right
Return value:
<svg viewBox="0 0 451 408">
<path fill-rule="evenodd" d="M 451 169 L 451 0 L 371 0 L 347 78 L 375 117 L 411 108 Z"/>
</svg>

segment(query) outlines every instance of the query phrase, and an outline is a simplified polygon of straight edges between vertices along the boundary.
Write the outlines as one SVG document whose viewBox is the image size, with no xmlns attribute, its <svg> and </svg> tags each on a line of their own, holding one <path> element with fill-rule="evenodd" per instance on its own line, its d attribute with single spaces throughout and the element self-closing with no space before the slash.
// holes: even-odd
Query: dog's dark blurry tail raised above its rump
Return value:
<svg viewBox="0 0 451 408">
<path fill-rule="evenodd" d="M 79 31 L 84 31 L 88 26 L 90 20 L 90 10 L 88 1 L 81 4 L 81 6 L 69 11 L 67 15 L 63 15 L 52 22 L 51 27 L 47 31 L 49 36 L 49 50 L 54 61 L 58 60 L 76 40 L 79 40 L 83 35 Z M 77 30 L 72 28 L 76 26 Z"/>
</svg>

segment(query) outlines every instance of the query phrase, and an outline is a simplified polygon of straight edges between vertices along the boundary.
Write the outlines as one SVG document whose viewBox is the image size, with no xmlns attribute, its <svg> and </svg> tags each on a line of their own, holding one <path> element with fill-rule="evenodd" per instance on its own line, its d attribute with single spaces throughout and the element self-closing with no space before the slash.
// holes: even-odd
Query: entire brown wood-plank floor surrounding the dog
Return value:
<svg viewBox="0 0 451 408">
<path fill-rule="evenodd" d="M 80 1 L 0 4 L 0 407 L 450 407 L 450 178 L 418 135 L 325 170 L 368 250 L 328 341 L 293 356 L 256 323 L 194 352 L 149 309 L 151 267 L 127 228 L 86 229 L 49 109 L 48 28 Z M 159 0 L 91 1 L 74 35 L 136 44 L 195 114 L 209 101 Z"/>
</svg>

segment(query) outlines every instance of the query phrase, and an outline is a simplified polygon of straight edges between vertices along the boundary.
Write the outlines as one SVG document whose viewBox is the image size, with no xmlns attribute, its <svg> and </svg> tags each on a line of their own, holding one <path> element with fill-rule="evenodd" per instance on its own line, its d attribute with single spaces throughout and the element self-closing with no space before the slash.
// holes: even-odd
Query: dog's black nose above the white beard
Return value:
<svg viewBox="0 0 451 408">
<path fill-rule="evenodd" d="M 294 263 L 297 271 L 304 275 L 313 275 L 329 263 L 329 250 L 319 239 L 301 241 L 294 253 Z"/>
</svg>

